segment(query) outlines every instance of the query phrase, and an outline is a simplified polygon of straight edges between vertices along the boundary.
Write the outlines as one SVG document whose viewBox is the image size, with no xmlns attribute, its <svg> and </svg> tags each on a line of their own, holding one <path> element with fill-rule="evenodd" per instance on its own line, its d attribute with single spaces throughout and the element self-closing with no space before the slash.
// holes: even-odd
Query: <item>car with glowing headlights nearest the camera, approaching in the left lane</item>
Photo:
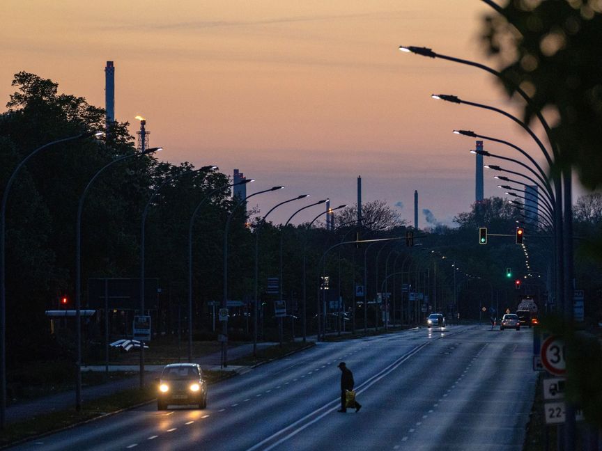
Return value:
<svg viewBox="0 0 602 451">
<path fill-rule="evenodd" d="M 157 390 L 157 410 L 167 406 L 196 404 L 199 409 L 207 406 L 207 381 L 201 365 L 196 363 L 171 363 L 163 368 Z"/>
</svg>

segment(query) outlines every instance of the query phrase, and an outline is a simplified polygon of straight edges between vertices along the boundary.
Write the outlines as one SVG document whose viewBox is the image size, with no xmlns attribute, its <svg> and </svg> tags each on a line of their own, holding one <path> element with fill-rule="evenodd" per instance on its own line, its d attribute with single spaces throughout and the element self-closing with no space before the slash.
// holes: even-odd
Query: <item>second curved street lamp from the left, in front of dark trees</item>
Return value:
<svg viewBox="0 0 602 451">
<path fill-rule="evenodd" d="M 75 370 L 77 372 L 75 378 L 75 410 L 82 410 L 82 322 L 81 322 L 81 310 L 82 310 L 82 211 L 84 209 L 84 200 L 86 199 L 86 194 L 88 190 L 92 186 L 94 180 L 107 169 L 109 166 L 112 166 L 119 161 L 124 159 L 139 157 L 140 155 L 148 155 L 153 152 L 158 152 L 163 148 L 150 148 L 144 150 L 144 152 L 136 152 L 130 155 L 123 155 L 123 157 L 118 157 L 114 160 L 109 161 L 109 163 L 102 166 L 90 179 L 82 196 L 79 197 L 79 205 L 77 206 L 77 222 L 75 225 L 75 340 L 77 341 L 77 357 L 75 362 Z"/>
</svg>

